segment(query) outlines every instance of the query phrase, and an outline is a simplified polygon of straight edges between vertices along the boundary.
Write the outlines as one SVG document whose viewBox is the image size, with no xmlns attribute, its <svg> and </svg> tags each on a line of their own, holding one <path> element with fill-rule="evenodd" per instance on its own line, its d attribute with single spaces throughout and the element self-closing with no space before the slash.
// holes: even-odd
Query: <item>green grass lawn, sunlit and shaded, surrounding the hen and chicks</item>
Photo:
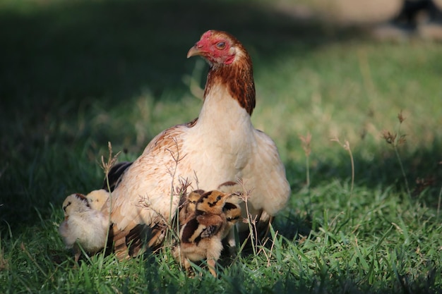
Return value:
<svg viewBox="0 0 442 294">
<path fill-rule="evenodd" d="M 0 293 L 442 293 L 441 44 L 376 42 L 265 1 L 3 1 L 0 26 Z M 198 115 L 188 82 L 205 66 L 185 54 L 208 28 L 249 49 L 253 123 L 287 169 L 272 240 L 217 279 L 187 278 L 169 252 L 73 268 L 64 197 L 101 185 L 107 142 L 132 160 Z"/>
</svg>

